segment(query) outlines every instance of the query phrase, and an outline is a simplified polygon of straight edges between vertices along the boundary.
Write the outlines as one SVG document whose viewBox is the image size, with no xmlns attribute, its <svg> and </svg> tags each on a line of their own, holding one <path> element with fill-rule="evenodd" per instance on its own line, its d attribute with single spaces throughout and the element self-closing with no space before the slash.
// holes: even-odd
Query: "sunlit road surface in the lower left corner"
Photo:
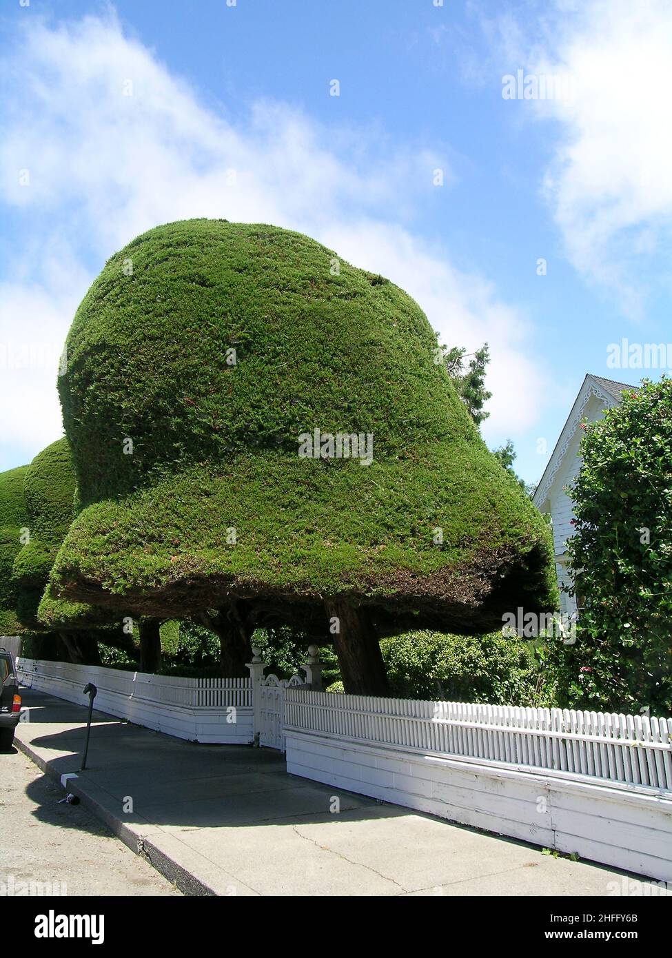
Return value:
<svg viewBox="0 0 672 958">
<path fill-rule="evenodd" d="M 16 748 L 0 753 L 0 896 L 179 895 Z M 28 883 L 28 886 L 21 882 Z"/>
</svg>

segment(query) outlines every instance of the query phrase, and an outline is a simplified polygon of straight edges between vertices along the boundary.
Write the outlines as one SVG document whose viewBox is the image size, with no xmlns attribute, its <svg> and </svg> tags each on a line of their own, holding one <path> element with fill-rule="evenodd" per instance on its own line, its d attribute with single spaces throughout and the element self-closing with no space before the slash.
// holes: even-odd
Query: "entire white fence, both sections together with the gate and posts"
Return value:
<svg viewBox="0 0 672 958">
<path fill-rule="evenodd" d="M 243 679 L 17 664 L 179 738 L 286 748 L 294 775 L 672 882 L 672 719 L 332 695 L 311 649 L 305 680 L 265 676 L 256 649 Z"/>
</svg>

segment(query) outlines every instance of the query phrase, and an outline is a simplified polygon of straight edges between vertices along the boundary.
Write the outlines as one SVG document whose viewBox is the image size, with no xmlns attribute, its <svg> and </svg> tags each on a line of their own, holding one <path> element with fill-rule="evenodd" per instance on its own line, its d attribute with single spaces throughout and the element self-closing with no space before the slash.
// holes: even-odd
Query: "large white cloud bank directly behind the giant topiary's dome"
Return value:
<svg viewBox="0 0 672 958">
<path fill-rule="evenodd" d="M 113 16 L 58 29 L 34 21 L 0 69 L 21 90 L 0 104 L 0 200 L 39 224 L 0 289 L 3 342 L 16 331 L 31 341 L 64 338 L 92 272 L 157 223 L 272 222 L 406 288 L 449 345 L 471 352 L 487 340 L 494 441 L 515 438 L 537 417 L 544 391 L 526 358 L 521 315 L 403 225 L 429 202 L 435 167 L 450 183 L 440 156 L 391 152 L 380 130 L 325 129 L 283 103 L 255 103 L 234 123 L 223 106 L 202 105 Z M 19 184 L 26 169 L 28 187 Z M 6 436 L 30 437 L 37 451 L 58 435 L 54 382 L 53 370 L 3 378 Z"/>
</svg>

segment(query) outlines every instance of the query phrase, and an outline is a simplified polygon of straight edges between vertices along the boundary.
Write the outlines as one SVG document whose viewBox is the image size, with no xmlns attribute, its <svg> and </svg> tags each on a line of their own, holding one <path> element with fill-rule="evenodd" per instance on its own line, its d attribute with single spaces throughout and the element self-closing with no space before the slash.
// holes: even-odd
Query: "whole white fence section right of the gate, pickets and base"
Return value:
<svg viewBox="0 0 672 958">
<path fill-rule="evenodd" d="M 293 775 L 672 882 L 672 719 L 289 688 Z"/>
</svg>

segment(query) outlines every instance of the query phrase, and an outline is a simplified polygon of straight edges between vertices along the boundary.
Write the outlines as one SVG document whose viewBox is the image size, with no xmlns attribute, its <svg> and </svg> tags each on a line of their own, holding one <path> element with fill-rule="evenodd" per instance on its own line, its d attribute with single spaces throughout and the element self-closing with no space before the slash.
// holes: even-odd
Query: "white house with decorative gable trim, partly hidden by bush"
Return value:
<svg viewBox="0 0 672 958">
<path fill-rule="evenodd" d="M 586 376 L 533 496 L 535 506 L 542 513 L 550 513 L 553 525 L 555 570 L 560 587 L 560 610 L 568 615 L 576 611 L 577 602 L 575 596 L 569 596 L 563 591 L 563 586 L 571 582 L 567 568 L 567 540 L 574 531 L 571 525 L 574 517 L 572 503 L 565 487 L 571 483 L 581 468 L 579 443 L 582 430 L 579 428 L 579 423 L 584 420 L 595 422 L 602 419 L 605 409 L 620 403 L 624 390 L 634 389 L 637 389 L 637 386 L 630 386 L 625 382 L 614 382 L 614 379 L 603 379 L 601 376 L 591 376 L 590 373 Z"/>
</svg>

